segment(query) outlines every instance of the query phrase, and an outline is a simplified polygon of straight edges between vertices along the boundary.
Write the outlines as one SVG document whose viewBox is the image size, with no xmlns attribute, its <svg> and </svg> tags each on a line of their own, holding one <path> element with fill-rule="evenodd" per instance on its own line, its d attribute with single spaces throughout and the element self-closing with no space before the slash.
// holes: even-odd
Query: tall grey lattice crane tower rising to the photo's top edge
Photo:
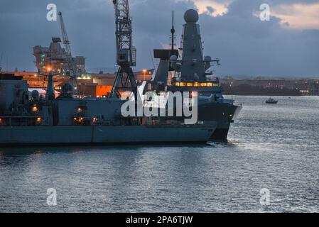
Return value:
<svg viewBox="0 0 319 227">
<path fill-rule="evenodd" d="M 113 0 L 115 9 L 115 36 L 117 40 L 117 65 L 119 70 L 110 98 L 120 97 L 120 92 L 132 92 L 137 98 L 137 85 L 131 67 L 136 66 L 136 49 L 133 46 L 132 23 L 128 0 Z"/>
</svg>

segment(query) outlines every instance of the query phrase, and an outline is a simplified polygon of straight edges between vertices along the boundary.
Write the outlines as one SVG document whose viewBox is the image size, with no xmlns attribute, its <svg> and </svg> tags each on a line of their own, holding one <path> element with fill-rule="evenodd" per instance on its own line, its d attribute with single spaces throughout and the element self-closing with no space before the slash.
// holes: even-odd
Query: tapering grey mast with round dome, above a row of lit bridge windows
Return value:
<svg viewBox="0 0 319 227">
<path fill-rule="evenodd" d="M 172 90 L 189 90 L 210 92 L 212 87 L 219 87 L 218 79 L 212 78 L 212 71 L 207 71 L 212 62 L 220 64 L 220 60 L 212 60 L 203 56 L 202 38 L 199 19 L 195 10 L 188 10 L 184 15 L 186 21 L 180 41 L 179 55 L 171 55 L 171 67 L 175 70 L 170 88 Z"/>
</svg>

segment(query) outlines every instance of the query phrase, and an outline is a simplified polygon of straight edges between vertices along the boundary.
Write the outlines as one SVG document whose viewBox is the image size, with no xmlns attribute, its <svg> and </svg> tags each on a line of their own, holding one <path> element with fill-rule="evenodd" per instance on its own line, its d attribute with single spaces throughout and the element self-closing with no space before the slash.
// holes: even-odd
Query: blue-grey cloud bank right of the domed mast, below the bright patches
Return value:
<svg viewBox="0 0 319 227">
<path fill-rule="evenodd" d="M 205 52 L 222 60 L 217 73 L 318 75 L 319 31 L 283 29 L 275 17 L 261 21 L 252 14 L 262 3 L 234 1 L 225 16 L 201 16 Z"/>
</svg>

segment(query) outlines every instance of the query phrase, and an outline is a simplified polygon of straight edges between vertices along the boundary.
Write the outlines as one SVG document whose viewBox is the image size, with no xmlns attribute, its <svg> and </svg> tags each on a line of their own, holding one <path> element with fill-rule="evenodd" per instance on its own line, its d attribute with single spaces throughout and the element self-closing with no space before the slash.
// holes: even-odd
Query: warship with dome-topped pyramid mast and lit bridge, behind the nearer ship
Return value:
<svg viewBox="0 0 319 227">
<path fill-rule="evenodd" d="M 154 57 L 160 62 L 148 87 L 156 92 L 197 92 L 198 120 L 216 121 L 218 125 L 212 140 L 227 140 L 230 124 L 242 106 L 234 105 L 234 100 L 223 97 L 219 79 L 209 71 L 212 63 L 220 65 L 220 60 L 203 55 L 198 12 L 193 9 L 186 11 L 184 19 L 186 23 L 179 50 L 174 48 L 174 26 L 171 29 L 171 50 L 154 50 Z"/>
</svg>

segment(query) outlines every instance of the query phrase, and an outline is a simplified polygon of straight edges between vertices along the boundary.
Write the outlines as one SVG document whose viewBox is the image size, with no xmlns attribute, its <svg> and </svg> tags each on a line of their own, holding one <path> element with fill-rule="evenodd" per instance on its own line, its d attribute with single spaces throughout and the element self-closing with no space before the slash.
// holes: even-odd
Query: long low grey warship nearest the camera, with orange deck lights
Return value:
<svg viewBox="0 0 319 227">
<path fill-rule="evenodd" d="M 48 83 L 50 84 L 50 83 Z M 26 81 L 0 74 L 0 146 L 206 143 L 216 123 L 185 125 L 123 117 L 121 99 L 76 99 L 65 84 L 57 99 L 28 92 Z"/>
</svg>

